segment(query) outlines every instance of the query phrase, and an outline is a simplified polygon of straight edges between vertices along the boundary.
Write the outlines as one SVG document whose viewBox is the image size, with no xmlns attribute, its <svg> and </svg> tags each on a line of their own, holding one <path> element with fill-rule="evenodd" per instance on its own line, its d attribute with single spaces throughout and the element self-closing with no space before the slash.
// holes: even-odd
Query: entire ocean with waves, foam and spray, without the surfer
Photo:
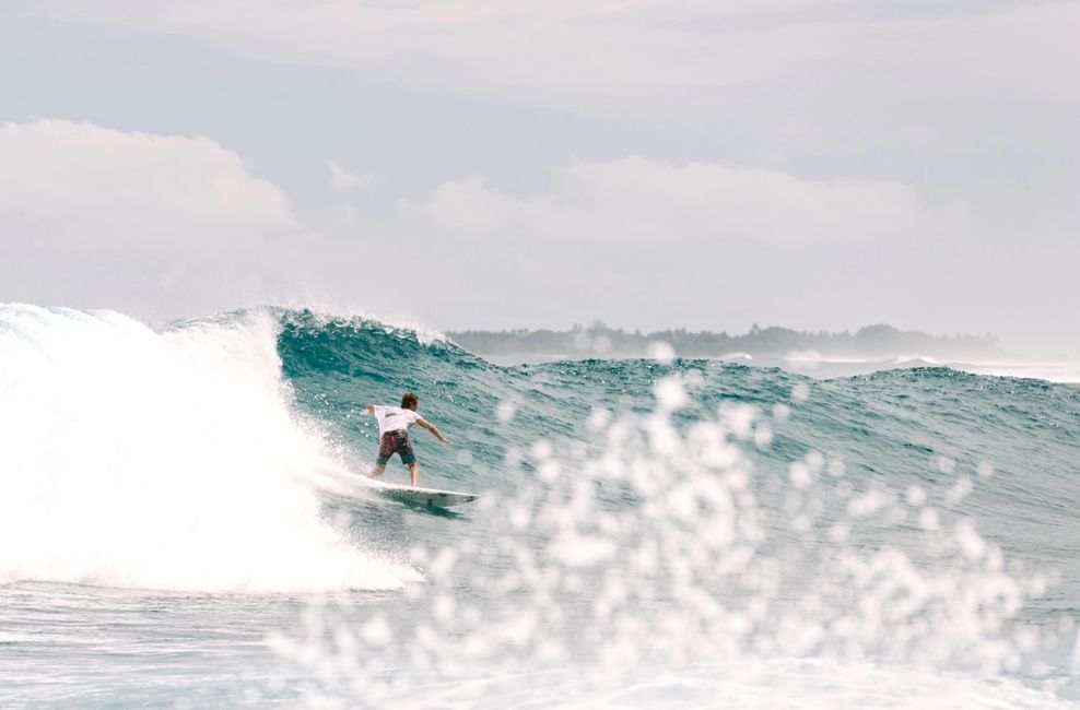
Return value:
<svg viewBox="0 0 1080 710">
<path fill-rule="evenodd" d="M 658 352 L 0 306 L 0 707 L 1077 707 L 1080 388 Z"/>
</svg>

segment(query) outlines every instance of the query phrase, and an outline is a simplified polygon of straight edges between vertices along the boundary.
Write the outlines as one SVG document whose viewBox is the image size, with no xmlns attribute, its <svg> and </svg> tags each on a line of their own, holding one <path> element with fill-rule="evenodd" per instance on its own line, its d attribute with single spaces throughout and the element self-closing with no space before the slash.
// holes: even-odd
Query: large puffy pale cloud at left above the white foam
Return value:
<svg viewBox="0 0 1080 710">
<path fill-rule="evenodd" d="M 207 138 L 3 123 L 0 164 L 0 300 L 212 312 L 283 291 L 298 261 L 285 196 Z"/>
</svg>

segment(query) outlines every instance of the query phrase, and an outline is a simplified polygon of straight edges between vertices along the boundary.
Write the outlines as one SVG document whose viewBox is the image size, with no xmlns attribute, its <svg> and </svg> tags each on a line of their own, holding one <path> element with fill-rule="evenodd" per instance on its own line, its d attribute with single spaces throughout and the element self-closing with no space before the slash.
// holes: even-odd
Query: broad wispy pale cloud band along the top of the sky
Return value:
<svg viewBox="0 0 1080 710">
<path fill-rule="evenodd" d="M 34 12 L 210 36 L 242 51 L 414 79 L 460 71 L 500 86 L 555 92 L 815 79 L 903 66 L 932 80 L 990 76 L 1068 91 L 1080 7 L 1068 2 L 852 3 L 842 0 L 74 0 Z M 461 76 L 459 75 L 460 80 Z M 903 82 L 901 82 L 903 83 Z M 921 82 L 913 82 L 915 87 Z M 900 90 L 894 82 L 891 87 Z"/>
</svg>

